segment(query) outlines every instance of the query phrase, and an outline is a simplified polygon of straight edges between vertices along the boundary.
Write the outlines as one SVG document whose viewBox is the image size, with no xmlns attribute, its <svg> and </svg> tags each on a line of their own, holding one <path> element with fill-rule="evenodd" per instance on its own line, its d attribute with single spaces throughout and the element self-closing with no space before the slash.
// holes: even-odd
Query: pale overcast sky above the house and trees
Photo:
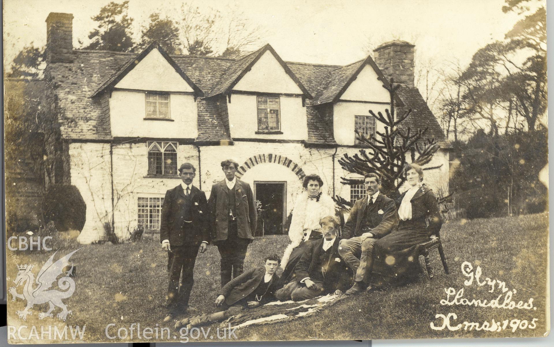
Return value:
<svg viewBox="0 0 554 347">
<path fill-rule="evenodd" d="M 121 0 L 122 1 L 122 0 Z M 117 1 L 116 2 L 121 2 Z M 108 0 L 4 0 L 4 61 L 34 42 L 46 43 L 44 20 L 50 12 L 72 13 L 74 46 L 94 28 L 91 17 Z M 135 32 L 148 15 L 176 14 L 182 1 L 131 0 L 129 14 Z M 364 58 L 370 40 L 391 39 L 416 43 L 423 57 L 438 61 L 459 59 L 466 64 L 477 49 L 501 39 L 517 20 L 502 13 L 504 0 L 387 0 L 387 1 L 234 1 L 196 2 L 201 11 L 237 3 L 244 15 L 261 25 L 284 60 L 321 64 L 348 64 Z"/>
</svg>

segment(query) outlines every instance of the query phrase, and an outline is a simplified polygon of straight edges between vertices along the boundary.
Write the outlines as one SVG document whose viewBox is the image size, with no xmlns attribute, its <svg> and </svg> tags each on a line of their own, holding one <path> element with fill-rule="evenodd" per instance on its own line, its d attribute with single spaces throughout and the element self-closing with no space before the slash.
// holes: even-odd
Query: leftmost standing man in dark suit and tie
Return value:
<svg viewBox="0 0 554 347">
<path fill-rule="evenodd" d="M 196 256 L 198 250 L 206 252 L 210 237 L 206 193 L 192 185 L 196 168 L 184 163 L 179 174 L 183 182 L 167 191 L 161 214 L 160 241 L 162 249 L 168 252 L 169 274 L 167 315 L 163 322 L 188 308 Z"/>
</svg>

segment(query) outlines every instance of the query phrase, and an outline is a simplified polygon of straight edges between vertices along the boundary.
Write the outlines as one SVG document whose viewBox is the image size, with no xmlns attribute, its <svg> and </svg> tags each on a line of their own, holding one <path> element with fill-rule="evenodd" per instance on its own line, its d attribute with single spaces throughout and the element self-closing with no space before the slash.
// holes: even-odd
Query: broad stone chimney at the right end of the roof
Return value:
<svg viewBox="0 0 554 347">
<path fill-rule="evenodd" d="M 387 79 L 408 87 L 414 86 L 414 45 L 394 40 L 373 50 L 375 63 Z"/>
</svg>

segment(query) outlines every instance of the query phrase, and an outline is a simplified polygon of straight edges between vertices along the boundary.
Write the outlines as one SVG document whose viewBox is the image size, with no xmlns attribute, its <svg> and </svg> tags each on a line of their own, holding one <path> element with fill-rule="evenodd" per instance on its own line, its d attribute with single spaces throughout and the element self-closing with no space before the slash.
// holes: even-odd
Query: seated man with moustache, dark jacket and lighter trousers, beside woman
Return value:
<svg viewBox="0 0 554 347">
<path fill-rule="evenodd" d="M 356 200 L 348 221 L 342 229 L 338 253 L 356 273 L 352 288 L 347 295 L 366 289 L 368 262 L 373 259 L 373 242 L 388 235 L 398 225 L 398 213 L 394 200 L 379 193 L 381 178 L 375 173 L 363 178 L 367 195 Z"/>
</svg>

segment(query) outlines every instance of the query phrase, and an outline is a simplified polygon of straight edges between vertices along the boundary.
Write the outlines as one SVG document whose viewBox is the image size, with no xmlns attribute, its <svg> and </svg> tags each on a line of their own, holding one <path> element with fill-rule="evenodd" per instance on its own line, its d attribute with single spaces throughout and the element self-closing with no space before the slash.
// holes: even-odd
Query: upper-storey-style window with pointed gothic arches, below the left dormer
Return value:
<svg viewBox="0 0 554 347">
<path fill-rule="evenodd" d="M 148 175 L 177 175 L 177 142 L 148 141 Z"/>
</svg>

